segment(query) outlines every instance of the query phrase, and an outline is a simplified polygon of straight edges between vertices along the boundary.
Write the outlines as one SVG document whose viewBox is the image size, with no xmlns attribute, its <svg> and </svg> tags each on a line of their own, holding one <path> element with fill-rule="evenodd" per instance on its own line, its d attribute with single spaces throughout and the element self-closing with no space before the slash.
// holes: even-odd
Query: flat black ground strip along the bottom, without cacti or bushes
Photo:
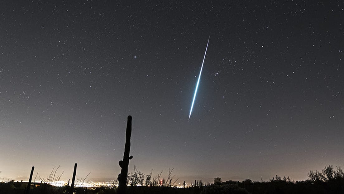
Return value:
<svg viewBox="0 0 344 194">
<path fill-rule="evenodd" d="M 1 194 L 23 194 L 27 183 L 0 183 Z M 67 187 L 55 187 L 42 184 L 32 187 L 30 194 L 65 194 Z M 76 188 L 76 194 L 115 194 L 116 188 L 100 187 L 95 189 Z M 344 178 L 328 182 L 288 182 L 288 181 L 269 181 L 269 182 L 234 182 L 234 184 L 210 185 L 201 187 L 175 188 L 175 187 L 146 187 L 128 186 L 127 193 L 130 194 L 343 194 Z"/>
</svg>

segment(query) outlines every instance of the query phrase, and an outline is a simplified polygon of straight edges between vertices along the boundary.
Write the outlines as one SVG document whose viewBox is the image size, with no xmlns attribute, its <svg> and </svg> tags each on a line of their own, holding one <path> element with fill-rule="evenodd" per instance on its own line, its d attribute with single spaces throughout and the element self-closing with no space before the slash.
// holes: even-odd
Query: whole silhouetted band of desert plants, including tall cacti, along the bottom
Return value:
<svg viewBox="0 0 344 194">
<path fill-rule="evenodd" d="M 131 116 L 128 116 L 128 123 L 126 129 L 126 143 L 123 160 L 119 161 L 121 173 L 118 175 L 118 184 L 114 183 L 113 186 L 108 187 L 79 187 L 75 186 L 75 176 L 77 164 L 74 165 L 72 183 L 67 185 L 53 186 L 49 182 L 59 181 L 61 175 L 56 176 L 58 166 L 56 169 L 53 167 L 51 173 L 47 178 L 41 178 L 40 182 L 36 182 L 38 172 L 33 178 L 34 166 L 32 166 L 29 182 L 15 182 L 9 180 L 0 182 L 1 194 L 343 194 L 344 193 L 344 172 L 336 166 L 325 166 L 321 171 L 309 171 L 308 179 L 305 181 L 294 181 L 289 176 L 281 177 L 276 175 L 269 181 L 251 181 L 246 179 L 242 182 L 239 181 L 226 181 L 220 177 L 214 178 L 213 183 L 204 184 L 202 180 L 195 180 L 191 186 L 186 186 L 185 181 L 183 187 L 176 187 L 175 182 L 179 180 L 173 175 L 174 169 L 169 169 L 167 177 L 162 177 L 163 171 L 153 176 L 153 170 L 149 174 L 143 174 L 136 166 L 133 172 L 128 173 L 129 160 L 133 156 L 129 156 L 130 152 L 130 136 L 131 136 Z M 1 171 L 0 171 L 1 173 Z M 90 173 L 87 174 L 87 176 Z M 80 182 L 86 180 L 87 176 L 80 179 Z M 33 182 L 32 182 L 33 180 Z M 118 186 L 115 186 L 118 185 Z"/>
</svg>

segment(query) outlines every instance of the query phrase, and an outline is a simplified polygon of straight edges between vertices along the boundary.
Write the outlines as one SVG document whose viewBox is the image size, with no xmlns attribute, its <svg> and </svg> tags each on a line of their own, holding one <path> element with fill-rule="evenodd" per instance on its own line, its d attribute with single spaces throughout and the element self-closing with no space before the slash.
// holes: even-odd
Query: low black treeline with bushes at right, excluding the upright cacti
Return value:
<svg viewBox="0 0 344 194">
<path fill-rule="evenodd" d="M 309 179 L 294 182 L 289 177 L 276 175 L 270 181 L 252 182 L 247 179 L 243 182 L 222 182 L 221 178 L 215 178 L 214 184 L 187 188 L 171 186 L 128 186 L 130 194 L 343 194 L 344 173 L 340 167 L 326 166 L 321 171 L 310 171 Z M 23 194 L 27 183 L 15 183 L 13 181 L 0 183 L 1 194 Z M 75 188 L 76 194 L 116 194 L 116 188 L 98 187 L 86 189 Z M 68 187 L 55 187 L 49 184 L 41 184 L 30 190 L 30 194 L 65 194 Z"/>
</svg>

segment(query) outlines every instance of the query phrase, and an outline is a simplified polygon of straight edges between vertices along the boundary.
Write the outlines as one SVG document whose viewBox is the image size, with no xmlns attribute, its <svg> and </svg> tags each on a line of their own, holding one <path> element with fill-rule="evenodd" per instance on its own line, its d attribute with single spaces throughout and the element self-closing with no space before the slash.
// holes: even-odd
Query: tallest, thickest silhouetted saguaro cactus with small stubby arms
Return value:
<svg viewBox="0 0 344 194">
<path fill-rule="evenodd" d="M 127 130 L 126 130 L 126 144 L 124 147 L 123 160 L 119 161 L 119 166 L 121 167 L 121 173 L 118 175 L 118 194 L 125 194 L 127 187 L 127 175 L 128 175 L 128 165 L 129 160 L 132 159 L 132 156 L 129 157 L 130 152 L 130 136 L 131 136 L 131 119 L 132 117 L 128 116 Z"/>
</svg>

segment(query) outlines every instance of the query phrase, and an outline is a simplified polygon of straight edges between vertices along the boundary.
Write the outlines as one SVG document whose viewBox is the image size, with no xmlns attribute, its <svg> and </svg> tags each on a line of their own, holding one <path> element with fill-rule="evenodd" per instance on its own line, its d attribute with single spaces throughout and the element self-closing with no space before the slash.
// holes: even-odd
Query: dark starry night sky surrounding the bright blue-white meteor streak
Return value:
<svg viewBox="0 0 344 194">
<path fill-rule="evenodd" d="M 8 0 L 0 14 L 0 177 L 61 165 L 68 179 L 75 162 L 117 177 L 129 114 L 129 172 L 344 167 L 343 1 Z"/>
</svg>

